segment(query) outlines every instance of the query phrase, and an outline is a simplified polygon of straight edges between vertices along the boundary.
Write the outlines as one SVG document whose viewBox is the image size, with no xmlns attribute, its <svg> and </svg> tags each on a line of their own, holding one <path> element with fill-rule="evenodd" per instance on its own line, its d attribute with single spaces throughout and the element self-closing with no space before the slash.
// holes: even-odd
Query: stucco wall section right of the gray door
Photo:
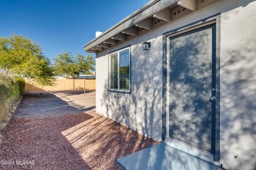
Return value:
<svg viewBox="0 0 256 170">
<path fill-rule="evenodd" d="M 229 5 L 221 15 L 221 161 L 256 169 L 256 3 Z"/>
</svg>

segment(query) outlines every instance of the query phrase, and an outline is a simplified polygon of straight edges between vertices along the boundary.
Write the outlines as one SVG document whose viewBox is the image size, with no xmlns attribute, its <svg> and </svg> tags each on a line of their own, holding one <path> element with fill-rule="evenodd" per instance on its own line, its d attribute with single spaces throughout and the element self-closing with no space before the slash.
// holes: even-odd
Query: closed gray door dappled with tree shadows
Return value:
<svg viewBox="0 0 256 170">
<path fill-rule="evenodd" d="M 215 24 L 170 38 L 169 135 L 215 152 Z"/>
</svg>

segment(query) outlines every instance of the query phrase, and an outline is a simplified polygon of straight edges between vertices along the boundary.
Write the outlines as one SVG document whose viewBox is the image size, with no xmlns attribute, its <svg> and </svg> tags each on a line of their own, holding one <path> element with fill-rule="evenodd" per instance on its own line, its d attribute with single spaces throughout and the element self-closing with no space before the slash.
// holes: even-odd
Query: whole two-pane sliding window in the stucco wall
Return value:
<svg viewBox="0 0 256 170">
<path fill-rule="evenodd" d="M 109 54 L 109 90 L 130 91 L 130 47 Z"/>
</svg>

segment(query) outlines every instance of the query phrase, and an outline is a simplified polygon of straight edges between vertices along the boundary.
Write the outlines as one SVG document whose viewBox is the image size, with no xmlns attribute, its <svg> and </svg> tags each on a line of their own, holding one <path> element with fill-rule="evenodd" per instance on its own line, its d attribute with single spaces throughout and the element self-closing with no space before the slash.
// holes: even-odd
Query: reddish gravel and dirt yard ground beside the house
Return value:
<svg viewBox="0 0 256 170">
<path fill-rule="evenodd" d="M 117 158 L 158 143 L 96 114 L 95 92 L 86 95 L 26 94 L 3 132 L 0 169 L 122 169 Z"/>
</svg>

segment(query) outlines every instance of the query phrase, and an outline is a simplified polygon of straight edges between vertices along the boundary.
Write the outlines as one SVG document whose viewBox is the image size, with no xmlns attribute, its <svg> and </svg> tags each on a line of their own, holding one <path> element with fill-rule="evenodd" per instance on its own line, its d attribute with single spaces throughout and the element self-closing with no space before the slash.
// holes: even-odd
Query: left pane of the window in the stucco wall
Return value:
<svg viewBox="0 0 256 170">
<path fill-rule="evenodd" d="M 117 70 L 117 67 L 118 67 L 118 60 L 117 60 L 117 57 L 118 55 L 117 54 L 114 54 L 114 55 L 111 55 L 110 56 L 110 66 L 111 66 L 111 70 L 110 70 L 110 73 L 111 73 L 111 78 L 110 78 L 110 81 L 111 81 L 111 89 L 118 89 L 118 70 Z"/>
</svg>

